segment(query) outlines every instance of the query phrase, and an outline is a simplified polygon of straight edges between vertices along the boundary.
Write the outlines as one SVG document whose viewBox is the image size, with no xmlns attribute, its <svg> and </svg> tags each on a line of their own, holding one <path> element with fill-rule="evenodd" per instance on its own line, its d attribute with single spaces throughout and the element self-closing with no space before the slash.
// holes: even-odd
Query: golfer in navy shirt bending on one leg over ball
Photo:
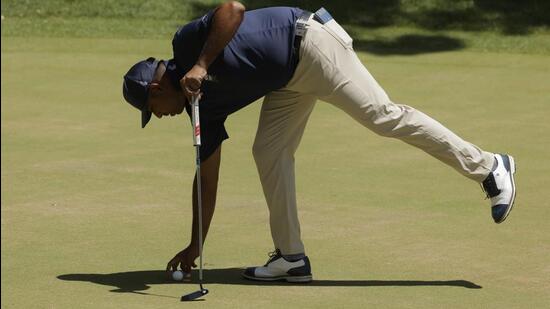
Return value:
<svg viewBox="0 0 550 309">
<path fill-rule="evenodd" d="M 318 99 L 481 183 L 496 223 L 512 209 L 514 159 L 484 151 L 426 114 L 392 102 L 355 54 L 351 38 L 324 9 L 315 14 L 290 7 L 245 12 L 242 4 L 231 1 L 181 27 L 172 47 L 169 61 L 148 58 L 135 64 L 124 76 L 123 94 L 141 111 L 142 127 L 151 114 L 162 118 L 184 109 L 189 114 L 190 98 L 201 96 L 203 239 L 216 203 L 221 144 L 228 138 L 224 122 L 264 97 L 252 153 L 275 252 L 264 266 L 246 269 L 248 279 L 312 280 L 296 210 L 294 153 Z M 196 267 L 196 198 L 195 191 L 190 243 L 167 270 Z"/>
</svg>

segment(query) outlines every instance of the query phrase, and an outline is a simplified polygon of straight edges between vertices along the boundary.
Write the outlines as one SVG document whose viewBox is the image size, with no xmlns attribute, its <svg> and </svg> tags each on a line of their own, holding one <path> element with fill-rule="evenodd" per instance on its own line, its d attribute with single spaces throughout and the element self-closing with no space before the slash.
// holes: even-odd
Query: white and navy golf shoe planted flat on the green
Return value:
<svg viewBox="0 0 550 309">
<path fill-rule="evenodd" d="M 307 256 L 297 261 L 287 261 L 279 249 L 269 254 L 269 260 L 264 266 L 249 267 L 243 277 L 258 281 L 281 281 L 306 283 L 311 281 L 311 266 Z"/>
</svg>

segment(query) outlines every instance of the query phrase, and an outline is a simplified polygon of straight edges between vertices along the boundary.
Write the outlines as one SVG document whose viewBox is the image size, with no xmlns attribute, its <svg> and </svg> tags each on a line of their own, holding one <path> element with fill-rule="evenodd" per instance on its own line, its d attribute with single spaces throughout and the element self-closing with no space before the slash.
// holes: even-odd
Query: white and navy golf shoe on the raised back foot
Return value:
<svg viewBox="0 0 550 309">
<path fill-rule="evenodd" d="M 514 173 L 516 164 L 512 156 L 496 154 L 497 166 L 482 182 L 483 190 L 491 199 L 491 214 L 495 223 L 503 222 L 514 206 L 516 184 Z"/>
</svg>

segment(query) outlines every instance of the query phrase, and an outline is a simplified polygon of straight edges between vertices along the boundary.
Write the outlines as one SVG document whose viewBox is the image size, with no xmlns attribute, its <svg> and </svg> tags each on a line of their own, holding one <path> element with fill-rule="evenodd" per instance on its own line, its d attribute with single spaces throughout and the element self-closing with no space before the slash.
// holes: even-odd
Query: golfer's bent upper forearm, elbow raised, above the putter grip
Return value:
<svg viewBox="0 0 550 309">
<path fill-rule="evenodd" d="M 245 7 L 237 1 L 222 4 L 214 13 L 206 43 L 197 64 L 205 70 L 233 39 L 244 17 Z"/>
</svg>

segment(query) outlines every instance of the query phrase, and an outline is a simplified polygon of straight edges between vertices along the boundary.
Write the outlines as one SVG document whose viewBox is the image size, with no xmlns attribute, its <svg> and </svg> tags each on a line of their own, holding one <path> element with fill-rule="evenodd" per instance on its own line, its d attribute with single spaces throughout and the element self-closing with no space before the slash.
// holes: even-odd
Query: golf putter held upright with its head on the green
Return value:
<svg viewBox="0 0 550 309">
<path fill-rule="evenodd" d="M 191 100 L 191 124 L 193 125 L 193 145 L 197 152 L 196 155 L 196 175 L 197 175 L 197 206 L 199 213 L 199 285 L 200 289 L 193 293 L 183 295 L 181 301 L 192 301 L 208 294 L 208 290 L 202 286 L 202 202 L 201 202 L 201 125 L 199 117 L 199 96 L 193 96 Z"/>
</svg>

